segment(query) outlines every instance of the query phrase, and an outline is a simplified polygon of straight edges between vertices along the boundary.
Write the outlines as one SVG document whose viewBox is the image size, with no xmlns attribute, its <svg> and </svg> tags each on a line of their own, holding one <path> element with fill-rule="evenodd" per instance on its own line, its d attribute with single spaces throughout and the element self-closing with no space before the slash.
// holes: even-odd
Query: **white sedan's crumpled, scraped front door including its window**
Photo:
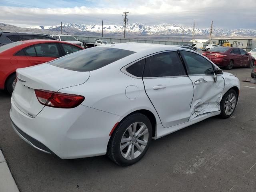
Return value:
<svg viewBox="0 0 256 192">
<path fill-rule="evenodd" d="M 190 120 L 201 114 L 219 111 L 224 79 L 218 75 L 215 82 L 213 65 L 203 56 L 190 51 L 180 52 L 194 86 Z"/>
</svg>

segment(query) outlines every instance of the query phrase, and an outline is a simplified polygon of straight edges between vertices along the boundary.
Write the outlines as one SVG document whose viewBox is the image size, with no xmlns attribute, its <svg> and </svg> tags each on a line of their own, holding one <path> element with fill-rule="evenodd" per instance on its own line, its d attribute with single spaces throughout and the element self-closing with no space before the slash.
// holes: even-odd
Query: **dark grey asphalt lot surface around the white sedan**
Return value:
<svg viewBox="0 0 256 192">
<path fill-rule="evenodd" d="M 21 192 L 256 191 L 256 85 L 241 80 L 231 118 L 217 117 L 153 140 L 144 158 L 120 167 L 106 156 L 61 160 L 24 142 L 10 124 L 10 96 L 0 92 L 0 148 Z M 90 146 L 84 146 L 90 147 Z"/>
</svg>

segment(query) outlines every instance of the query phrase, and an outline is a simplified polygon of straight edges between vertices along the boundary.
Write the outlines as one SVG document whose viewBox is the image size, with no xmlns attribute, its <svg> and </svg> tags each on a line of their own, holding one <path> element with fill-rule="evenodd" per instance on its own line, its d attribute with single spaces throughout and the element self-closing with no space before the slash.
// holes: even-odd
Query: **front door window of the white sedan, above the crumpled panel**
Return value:
<svg viewBox="0 0 256 192">
<path fill-rule="evenodd" d="M 186 64 L 188 75 L 213 75 L 212 64 L 199 54 L 181 51 Z"/>
</svg>

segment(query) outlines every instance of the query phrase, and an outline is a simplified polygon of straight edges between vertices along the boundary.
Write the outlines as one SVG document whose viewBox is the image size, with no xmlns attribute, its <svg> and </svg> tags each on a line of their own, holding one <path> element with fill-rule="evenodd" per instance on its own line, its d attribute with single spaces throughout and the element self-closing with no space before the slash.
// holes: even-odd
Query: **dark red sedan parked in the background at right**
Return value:
<svg viewBox="0 0 256 192">
<path fill-rule="evenodd" d="M 219 67 L 230 70 L 233 67 L 254 66 L 254 57 L 245 50 L 236 47 L 214 47 L 202 53 Z"/>
</svg>

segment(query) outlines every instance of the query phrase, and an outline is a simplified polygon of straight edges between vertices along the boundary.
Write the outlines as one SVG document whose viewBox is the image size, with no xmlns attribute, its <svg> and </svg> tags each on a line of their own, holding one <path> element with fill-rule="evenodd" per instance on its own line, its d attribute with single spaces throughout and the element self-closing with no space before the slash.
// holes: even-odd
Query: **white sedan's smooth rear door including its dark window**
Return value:
<svg viewBox="0 0 256 192">
<path fill-rule="evenodd" d="M 188 121 L 194 89 L 176 51 L 148 56 L 143 82 L 165 128 Z"/>
</svg>

